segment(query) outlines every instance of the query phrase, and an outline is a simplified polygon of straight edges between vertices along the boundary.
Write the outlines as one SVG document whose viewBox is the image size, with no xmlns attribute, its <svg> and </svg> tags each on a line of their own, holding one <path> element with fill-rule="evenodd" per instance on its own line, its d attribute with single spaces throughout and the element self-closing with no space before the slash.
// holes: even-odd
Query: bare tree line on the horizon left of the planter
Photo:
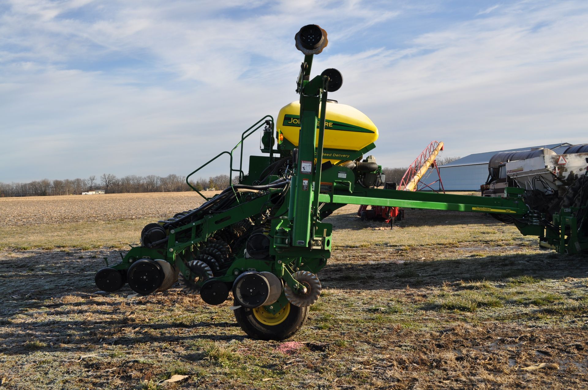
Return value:
<svg viewBox="0 0 588 390">
<path fill-rule="evenodd" d="M 236 183 L 235 179 L 233 179 L 233 183 Z M 218 176 L 211 176 L 208 179 L 201 177 L 198 180 L 190 180 L 190 184 L 199 191 L 207 187 L 225 189 L 229 186 L 229 176 L 220 174 Z M 0 197 L 79 195 L 82 192 L 98 189 L 105 190 L 108 194 L 192 191 L 188 184 L 186 184 L 186 176 L 179 176 L 173 173 L 165 177 L 155 174 L 149 174 L 147 176 L 131 174 L 116 177 L 112 173 L 103 173 L 99 177 L 92 175 L 87 179 L 42 179 L 29 183 L 0 182 Z"/>
</svg>

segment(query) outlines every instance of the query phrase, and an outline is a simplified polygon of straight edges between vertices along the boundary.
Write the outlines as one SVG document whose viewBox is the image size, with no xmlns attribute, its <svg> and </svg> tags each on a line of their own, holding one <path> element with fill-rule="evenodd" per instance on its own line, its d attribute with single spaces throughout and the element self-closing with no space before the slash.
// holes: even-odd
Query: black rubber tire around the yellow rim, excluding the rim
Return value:
<svg viewBox="0 0 588 390">
<path fill-rule="evenodd" d="M 266 325 L 259 322 L 253 309 L 240 307 L 233 310 L 235 318 L 241 329 L 251 338 L 259 340 L 285 340 L 292 337 L 302 328 L 308 318 L 308 307 L 297 307 L 290 304 L 290 313 L 286 320 L 278 325 Z M 239 303 L 235 301 L 235 306 Z"/>
</svg>

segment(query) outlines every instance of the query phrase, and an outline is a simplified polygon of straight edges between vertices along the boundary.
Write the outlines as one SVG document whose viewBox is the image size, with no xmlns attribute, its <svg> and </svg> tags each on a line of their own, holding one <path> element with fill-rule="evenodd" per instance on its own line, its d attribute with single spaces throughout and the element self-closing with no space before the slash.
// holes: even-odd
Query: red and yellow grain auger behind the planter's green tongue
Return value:
<svg viewBox="0 0 588 390">
<path fill-rule="evenodd" d="M 445 193 L 445 188 L 443 188 L 443 181 L 441 181 L 441 174 L 436 161 L 439 152 L 442 152 L 442 150 L 443 142 L 433 141 L 429 143 L 425 150 L 423 150 L 423 152 L 416 157 L 415 161 L 410 164 L 404 176 L 402 176 L 402 180 L 400 180 L 398 189 L 405 191 L 429 189 L 437 192 L 432 186 L 439 182 L 440 189 Z M 433 169 L 437 170 L 437 177 L 439 179 L 427 184 L 426 179 L 429 177 Z M 396 190 L 396 183 L 384 183 L 384 189 Z M 395 221 L 402 221 L 404 219 L 404 210 L 400 209 L 400 207 L 362 205 L 359 206 L 358 216 L 362 218 L 362 221 L 383 220 L 386 223 L 389 223 L 390 227 L 393 228 Z"/>
</svg>

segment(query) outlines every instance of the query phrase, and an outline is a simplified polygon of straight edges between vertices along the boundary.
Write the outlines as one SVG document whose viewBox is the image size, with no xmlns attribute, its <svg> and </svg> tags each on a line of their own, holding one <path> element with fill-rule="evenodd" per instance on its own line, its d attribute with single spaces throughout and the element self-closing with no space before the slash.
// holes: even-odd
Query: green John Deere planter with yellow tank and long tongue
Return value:
<svg viewBox="0 0 588 390">
<path fill-rule="evenodd" d="M 323 220 L 345 204 L 495 213 L 523 234 L 551 240 L 560 252 L 588 248 L 586 186 L 579 190 L 580 206 L 562 210 L 553 221 L 527 206 L 518 188 L 506 188 L 505 197 L 376 189 L 381 167 L 363 155 L 375 147 L 377 127 L 359 110 L 328 99 L 342 85 L 338 70 L 311 77 L 313 56 L 327 45 L 327 33 L 307 25 L 295 42 L 305 55 L 296 80 L 299 100 L 283 107 L 276 121 L 260 119 L 233 149 L 202 166 L 226 155 L 229 177 L 238 174 L 239 183 L 204 197 L 202 206 L 145 226 L 141 246 L 96 273 L 99 288 L 116 291 L 128 283 L 148 295 L 177 279 L 183 291 L 211 305 L 232 293 L 231 309 L 243 331 L 285 339 L 302 327 L 320 296 L 317 274 L 332 247 L 332 226 Z M 250 156 L 245 173 L 243 142 L 258 129 L 263 155 Z M 188 175 L 188 184 L 201 168 Z"/>
</svg>

